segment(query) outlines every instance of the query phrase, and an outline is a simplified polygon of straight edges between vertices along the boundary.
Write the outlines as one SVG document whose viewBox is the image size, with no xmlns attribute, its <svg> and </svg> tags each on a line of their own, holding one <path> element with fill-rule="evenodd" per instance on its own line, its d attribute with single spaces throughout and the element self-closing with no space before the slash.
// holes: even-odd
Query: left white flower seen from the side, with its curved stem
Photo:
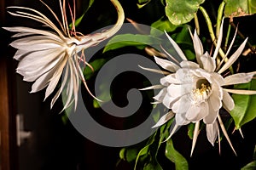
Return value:
<svg viewBox="0 0 256 170">
<path fill-rule="evenodd" d="M 20 61 L 16 71 L 23 76 L 24 81 L 34 82 L 31 93 L 38 92 L 47 87 L 44 99 L 48 98 L 53 93 L 63 74 L 61 87 L 51 100 L 51 108 L 64 88 L 67 88 L 67 101 L 64 109 L 71 105 L 73 101 L 76 108 L 80 80 L 84 82 L 85 88 L 90 93 L 84 80 L 82 68 L 79 65 L 81 61 L 83 65 L 89 65 L 85 61 L 84 49 L 95 46 L 99 42 L 113 36 L 113 34 L 119 31 L 125 19 L 120 3 L 117 0 L 110 1 L 118 13 L 116 24 L 108 31 L 85 36 L 75 31 L 75 1 L 73 1 L 73 12 L 68 3 L 72 18 L 72 29 L 69 29 L 67 23 L 66 0 L 63 0 L 63 2 L 59 1 L 61 20 L 58 19 L 57 15 L 47 4 L 41 1 L 55 17 L 55 20 L 60 25 L 59 28 L 48 17 L 38 12 L 38 10 L 17 6 L 9 7 L 9 9 L 16 10 L 15 12 L 9 12 L 9 14 L 36 20 L 42 23 L 44 28 L 49 28 L 50 30 L 39 30 L 23 26 L 4 27 L 8 31 L 18 32 L 13 36 L 18 37 L 18 39 L 11 42 L 10 45 L 18 49 L 14 56 L 15 59 Z M 90 93 L 90 95 L 96 98 L 93 94 Z"/>
</svg>

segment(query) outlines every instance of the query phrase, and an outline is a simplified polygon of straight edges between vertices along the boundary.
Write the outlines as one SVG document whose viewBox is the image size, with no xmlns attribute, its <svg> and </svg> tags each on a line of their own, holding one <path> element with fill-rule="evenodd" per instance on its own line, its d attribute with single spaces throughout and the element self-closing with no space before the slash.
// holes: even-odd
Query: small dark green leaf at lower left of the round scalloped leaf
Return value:
<svg viewBox="0 0 256 170">
<path fill-rule="evenodd" d="M 178 26 L 174 26 L 170 20 L 167 20 L 165 16 L 161 17 L 160 20 L 156 20 L 152 25 L 150 31 L 151 35 L 163 34 L 164 31 L 172 32 L 175 31 Z"/>
</svg>

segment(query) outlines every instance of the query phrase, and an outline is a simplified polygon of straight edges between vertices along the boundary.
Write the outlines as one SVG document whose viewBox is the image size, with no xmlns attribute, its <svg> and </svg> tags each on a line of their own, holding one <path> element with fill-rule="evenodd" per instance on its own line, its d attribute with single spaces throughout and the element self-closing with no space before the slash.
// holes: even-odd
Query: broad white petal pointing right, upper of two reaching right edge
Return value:
<svg viewBox="0 0 256 170">
<path fill-rule="evenodd" d="M 224 78 L 224 86 L 250 82 L 255 72 L 252 73 L 237 73 Z"/>
</svg>

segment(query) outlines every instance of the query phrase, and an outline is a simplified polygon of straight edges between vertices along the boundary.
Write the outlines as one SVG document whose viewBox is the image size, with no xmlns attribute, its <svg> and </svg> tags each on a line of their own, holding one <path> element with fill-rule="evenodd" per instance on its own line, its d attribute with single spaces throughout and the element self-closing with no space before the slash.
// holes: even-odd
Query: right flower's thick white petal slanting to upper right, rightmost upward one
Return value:
<svg viewBox="0 0 256 170">
<path fill-rule="evenodd" d="M 234 54 L 231 55 L 230 59 L 222 66 L 221 69 L 219 69 L 218 73 L 221 74 L 223 73 L 225 70 L 227 70 L 228 68 L 230 68 L 231 65 L 233 65 L 233 63 L 236 61 L 236 59 L 240 56 L 243 48 L 245 47 L 246 43 L 247 43 L 247 39 L 246 38 L 244 40 L 244 42 L 241 43 L 240 47 L 236 50 L 236 52 Z"/>
</svg>

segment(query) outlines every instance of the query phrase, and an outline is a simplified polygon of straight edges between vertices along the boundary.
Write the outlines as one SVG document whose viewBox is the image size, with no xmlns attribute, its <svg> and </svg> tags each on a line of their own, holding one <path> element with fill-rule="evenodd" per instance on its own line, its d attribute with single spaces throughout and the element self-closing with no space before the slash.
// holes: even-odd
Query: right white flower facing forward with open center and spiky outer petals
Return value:
<svg viewBox="0 0 256 170">
<path fill-rule="evenodd" d="M 235 41 L 235 34 L 224 59 L 217 65 L 216 58 L 223 37 L 223 23 L 224 21 L 222 21 L 218 42 L 212 56 L 207 52 L 204 53 L 203 46 L 196 32 L 192 36 L 197 63 L 189 61 L 177 46 L 177 43 L 166 33 L 173 48 L 175 48 L 179 55 L 179 59 L 175 59 L 165 49 L 163 50 L 170 57 L 170 60 L 160 59 L 154 56 L 156 63 L 170 72 L 167 73 L 166 77 L 160 79 L 160 85 L 143 88 L 143 90 L 160 88 L 160 93 L 154 96 L 156 100 L 154 103 L 162 103 L 166 108 L 171 110 L 162 116 L 154 127 L 160 127 L 175 116 L 170 129 L 170 135 L 166 140 L 172 137 L 172 134 L 177 131 L 178 127 L 187 125 L 190 122 L 195 123 L 191 156 L 195 148 L 201 120 L 206 124 L 207 139 L 212 145 L 215 143 L 217 136 L 219 137 L 219 124 L 224 136 L 230 143 L 230 147 L 236 154 L 219 116 L 219 109 L 224 107 L 229 112 L 234 109 L 235 104 L 229 93 L 256 94 L 256 91 L 225 88 L 234 84 L 250 82 L 256 72 L 237 73 L 227 77 L 222 76 L 222 73 L 240 56 L 247 42 L 247 39 L 242 42 L 236 52 L 223 64 Z M 143 69 L 160 72 L 148 68 Z"/>
</svg>

